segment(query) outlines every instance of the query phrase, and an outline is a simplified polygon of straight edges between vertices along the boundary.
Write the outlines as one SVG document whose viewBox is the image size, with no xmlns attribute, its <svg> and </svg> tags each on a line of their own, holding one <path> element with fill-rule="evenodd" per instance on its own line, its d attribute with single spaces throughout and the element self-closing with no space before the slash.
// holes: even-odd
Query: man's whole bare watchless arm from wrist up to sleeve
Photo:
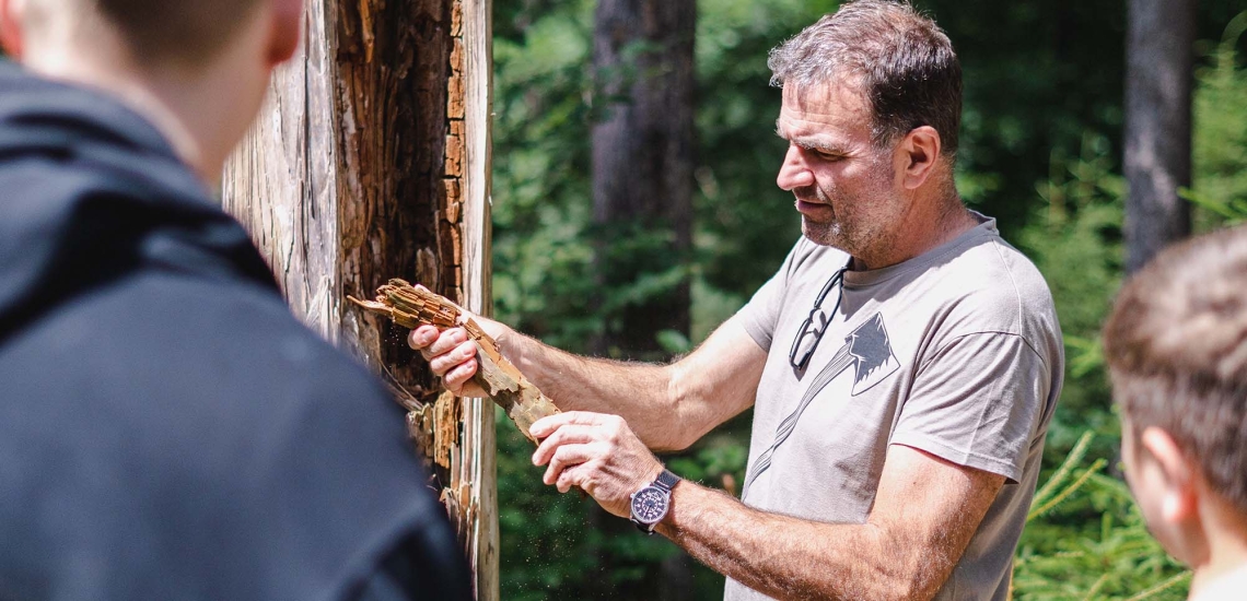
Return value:
<svg viewBox="0 0 1247 601">
<path fill-rule="evenodd" d="M 685 449 L 753 405 L 767 360 L 734 317 L 666 365 L 579 357 L 513 330 L 499 344 L 560 409 L 620 415 L 655 450 Z"/>
</svg>

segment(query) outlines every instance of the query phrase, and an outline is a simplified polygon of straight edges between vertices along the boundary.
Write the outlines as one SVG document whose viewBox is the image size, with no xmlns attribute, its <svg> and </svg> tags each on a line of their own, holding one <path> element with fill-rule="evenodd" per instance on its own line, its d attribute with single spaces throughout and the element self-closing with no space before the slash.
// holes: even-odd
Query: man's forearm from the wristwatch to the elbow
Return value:
<svg viewBox="0 0 1247 601">
<path fill-rule="evenodd" d="M 914 552 L 930 546 L 904 530 L 768 514 L 688 481 L 676 486 L 658 531 L 776 599 L 929 599 L 953 567 L 945 554 Z"/>
</svg>

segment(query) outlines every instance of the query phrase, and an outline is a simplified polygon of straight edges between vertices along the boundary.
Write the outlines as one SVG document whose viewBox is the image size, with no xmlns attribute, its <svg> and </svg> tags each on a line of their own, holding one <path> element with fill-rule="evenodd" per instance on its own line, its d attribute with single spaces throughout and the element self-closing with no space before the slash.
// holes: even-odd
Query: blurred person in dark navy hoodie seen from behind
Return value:
<svg viewBox="0 0 1247 601">
<path fill-rule="evenodd" d="M 470 599 L 400 411 L 205 187 L 301 22 L 0 0 L 0 597 Z"/>
</svg>

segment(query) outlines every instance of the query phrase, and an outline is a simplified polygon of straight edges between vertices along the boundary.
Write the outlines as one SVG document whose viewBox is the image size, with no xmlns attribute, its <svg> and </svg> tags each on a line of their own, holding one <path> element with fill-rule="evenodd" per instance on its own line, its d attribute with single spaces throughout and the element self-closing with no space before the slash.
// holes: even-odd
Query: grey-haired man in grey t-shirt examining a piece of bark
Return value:
<svg viewBox="0 0 1247 601">
<path fill-rule="evenodd" d="M 1005 599 L 1064 357 L 1042 278 L 956 195 L 956 56 L 912 7 L 862 0 L 771 67 L 778 185 L 804 238 L 672 365 L 572 357 L 490 322 L 567 410 L 532 425 L 534 461 L 559 490 L 656 524 L 728 576 L 729 600 Z M 410 337 L 449 387 L 479 393 L 464 340 Z M 743 502 L 650 453 L 749 405 Z"/>
</svg>

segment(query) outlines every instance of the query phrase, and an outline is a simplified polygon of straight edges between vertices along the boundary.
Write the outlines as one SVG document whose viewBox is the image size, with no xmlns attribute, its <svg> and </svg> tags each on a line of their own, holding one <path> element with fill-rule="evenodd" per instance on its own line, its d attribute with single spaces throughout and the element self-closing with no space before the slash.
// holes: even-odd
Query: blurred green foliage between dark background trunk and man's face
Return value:
<svg viewBox="0 0 1247 601">
<path fill-rule="evenodd" d="M 726 314 L 700 323 L 729 317 L 774 273 L 801 236 L 792 195 L 774 183 L 786 145 L 774 135 L 779 90 L 769 85 L 767 52 L 835 5 L 826 0 L 697 4 L 695 264 L 703 291 L 737 300 Z M 696 298 L 693 310 L 698 320 L 703 307 Z"/>
</svg>

